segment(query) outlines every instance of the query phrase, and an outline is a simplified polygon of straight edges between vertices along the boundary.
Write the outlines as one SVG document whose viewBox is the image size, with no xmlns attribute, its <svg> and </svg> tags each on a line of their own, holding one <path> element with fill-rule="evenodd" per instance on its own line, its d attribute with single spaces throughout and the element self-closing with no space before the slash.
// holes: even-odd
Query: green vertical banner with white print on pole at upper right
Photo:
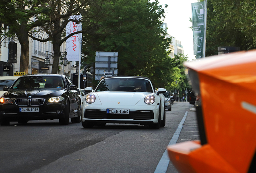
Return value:
<svg viewBox="0 0 256 173">
<path fill-rule="evenodd" d="M 192 3 L 191 5 L 194 55 L 198 59 L 203 58 L 204 53 L 204 1 Z"/>
</svg>

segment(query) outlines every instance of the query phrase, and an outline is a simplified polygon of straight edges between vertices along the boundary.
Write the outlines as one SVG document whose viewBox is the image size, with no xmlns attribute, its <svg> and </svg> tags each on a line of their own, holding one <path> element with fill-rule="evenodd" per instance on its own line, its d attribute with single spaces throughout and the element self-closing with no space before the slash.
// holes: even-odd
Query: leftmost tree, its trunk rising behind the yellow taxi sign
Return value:
<svg viewBox="0 0 256 173">
<path fill-rule="evenodd" d="M 28 72 L 29 33 L 34 27 L 41 26 L 44 18 L 31 20 L 44 10 L 41 3 L 47 0 L 2 0 L 0 3 L 0 21 L 8 25 L 9 35 L 16 34 L 21 44 L 20 71 Z"/>
</svg>

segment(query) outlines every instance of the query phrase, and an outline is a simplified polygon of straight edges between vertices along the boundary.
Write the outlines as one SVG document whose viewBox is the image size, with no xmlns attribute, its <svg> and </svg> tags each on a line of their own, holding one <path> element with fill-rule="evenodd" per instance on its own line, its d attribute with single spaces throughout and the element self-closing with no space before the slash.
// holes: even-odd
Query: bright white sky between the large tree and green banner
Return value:
<svg viewBox="0 0 256 173">
<path fill-rule="evenodd" d="M 152 1 L 152 0 L 151 0 Z M 184 49 L 184 54 L 188 55 L 188 59 L 195 59 L 193 48 L 193 32 L 189 27 L 192 26 L 190 18 L 192 17 L 191 3 L 197 0 L 158 0 L 162 8 L 167 4 L 165 9 L 164 23 L 167 23 L 167 32 L 174 36 L 176 40 L 180 40 Z"/>
</svg>

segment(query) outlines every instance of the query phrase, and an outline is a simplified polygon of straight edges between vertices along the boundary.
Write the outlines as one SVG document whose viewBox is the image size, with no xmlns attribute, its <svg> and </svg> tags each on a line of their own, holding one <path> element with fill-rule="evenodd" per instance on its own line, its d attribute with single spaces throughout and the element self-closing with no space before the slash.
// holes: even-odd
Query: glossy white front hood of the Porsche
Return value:
<svg viewBox="0 0 256 173">
<path fill-rule="evenodd" d="M 138 103 L 141 98 L 144 98 L 149 93 L 142 92 L 115 92 L 115 91 L 104 91 L 94 93 L 101 102 L 102 105 L 126 105 L 134 106 Z"/>
</svg>

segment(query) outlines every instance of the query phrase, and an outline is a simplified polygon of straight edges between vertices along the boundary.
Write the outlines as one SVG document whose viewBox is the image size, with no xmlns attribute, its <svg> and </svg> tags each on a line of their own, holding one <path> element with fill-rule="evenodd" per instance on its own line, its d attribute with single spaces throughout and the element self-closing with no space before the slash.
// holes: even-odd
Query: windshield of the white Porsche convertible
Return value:
<svg viewBox="0 0 256 173">
<path fill-rule="evenodd" d="M 106 78 L 95 91 L 132 91 L 153 93 L 149 80 L 141 78 Z"/>
</svg>

